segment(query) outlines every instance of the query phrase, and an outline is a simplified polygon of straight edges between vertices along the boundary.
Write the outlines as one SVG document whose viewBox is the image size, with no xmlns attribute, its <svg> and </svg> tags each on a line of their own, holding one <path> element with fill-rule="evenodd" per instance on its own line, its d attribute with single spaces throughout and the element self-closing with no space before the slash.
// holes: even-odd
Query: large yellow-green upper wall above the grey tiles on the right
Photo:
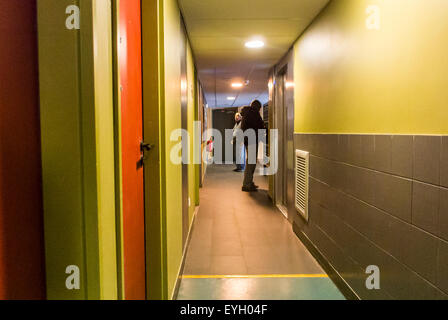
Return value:
<svg viewBox="0 0 448 320">
<path fill-rule="evenodd" d="M 295 131 L 448 133 L 447 16 L 446 0 L 331 1 L 294 46 Z"/>
</svg>

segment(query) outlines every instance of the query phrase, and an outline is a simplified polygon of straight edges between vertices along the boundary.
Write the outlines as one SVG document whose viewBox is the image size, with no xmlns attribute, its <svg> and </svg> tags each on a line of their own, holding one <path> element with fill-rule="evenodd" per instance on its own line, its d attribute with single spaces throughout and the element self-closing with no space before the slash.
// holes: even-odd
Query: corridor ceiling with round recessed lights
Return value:
<svg viewBox="0 0 448 320">
<path fill-rule="evenodd" d="M 178 0 L 209 107 L 267 102 L 269 70 L 328 1 Z M 253 38 L 265 47 L 246 48 Z M 246 80 L 241 89 L 231 87 Z"/>
</svg>

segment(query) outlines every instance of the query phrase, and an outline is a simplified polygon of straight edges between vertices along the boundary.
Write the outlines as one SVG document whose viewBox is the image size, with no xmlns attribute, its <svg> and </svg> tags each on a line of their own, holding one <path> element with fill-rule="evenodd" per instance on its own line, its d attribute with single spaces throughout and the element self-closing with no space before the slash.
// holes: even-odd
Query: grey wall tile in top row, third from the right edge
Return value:
<svg viewBox="0 0 448 320">
<path fill-rule="evenodd" d="M 414 163 L 414 137 L 394 135 L 391 138 L 391 172 L 412 178 Z"/>
</svg>

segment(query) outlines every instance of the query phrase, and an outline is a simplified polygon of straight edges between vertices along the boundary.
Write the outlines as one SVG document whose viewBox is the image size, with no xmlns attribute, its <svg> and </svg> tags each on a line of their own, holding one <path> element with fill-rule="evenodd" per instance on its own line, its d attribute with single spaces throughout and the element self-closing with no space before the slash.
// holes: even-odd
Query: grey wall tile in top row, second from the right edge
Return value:
<svg viewBox="0 0 448 320">
<path fill-rule="evenodd" d="M 440 184 L 440 136 L 414 137 L 414 179 Z"/>
</svg>

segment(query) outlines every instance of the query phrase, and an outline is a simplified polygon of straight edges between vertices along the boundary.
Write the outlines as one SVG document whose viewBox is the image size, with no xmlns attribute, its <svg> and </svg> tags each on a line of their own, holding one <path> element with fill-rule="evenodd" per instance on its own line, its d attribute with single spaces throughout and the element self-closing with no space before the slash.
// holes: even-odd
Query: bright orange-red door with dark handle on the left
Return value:
<svg viewBox="0 0 448 320">
<path fill-rule="evenodd" d="M 122 267 L 127 300 L 145 299 L 145 218 L 141 6 L 139 0 L 119 1 L 117 63 L 121 107 Z"/>
</svg>

